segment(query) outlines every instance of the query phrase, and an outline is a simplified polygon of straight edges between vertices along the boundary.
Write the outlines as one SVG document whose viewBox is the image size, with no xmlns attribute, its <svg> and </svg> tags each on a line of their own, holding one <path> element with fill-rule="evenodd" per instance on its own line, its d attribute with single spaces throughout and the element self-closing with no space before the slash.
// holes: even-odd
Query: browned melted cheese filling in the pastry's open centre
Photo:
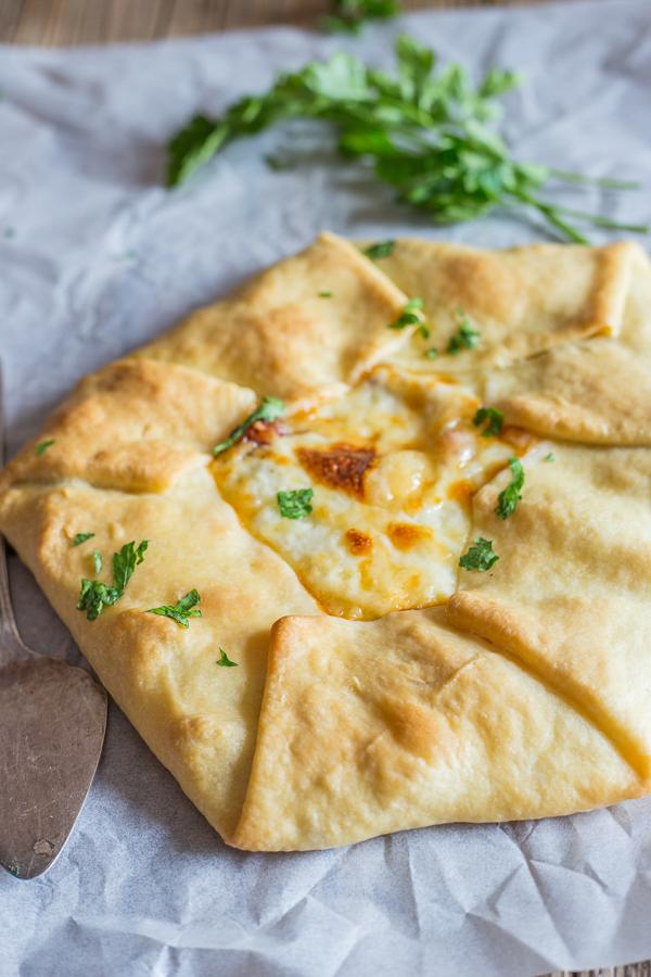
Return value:
<svg viewBox="0 0 651 977">
<path fill-rule="evenodd" d="M 295 415 L 213 462 L 246 529 L 279 553 L 323 610 L 369 620 L 448 599 L 474 493 L 508 464 L 483 437 L 461 385 L 376 367 L 346 395 Z M 255 439 L 255 432 L 252 436 Z M 281 515 L 279 492 L 311 488 L 312 511 Z"/>
</svg>

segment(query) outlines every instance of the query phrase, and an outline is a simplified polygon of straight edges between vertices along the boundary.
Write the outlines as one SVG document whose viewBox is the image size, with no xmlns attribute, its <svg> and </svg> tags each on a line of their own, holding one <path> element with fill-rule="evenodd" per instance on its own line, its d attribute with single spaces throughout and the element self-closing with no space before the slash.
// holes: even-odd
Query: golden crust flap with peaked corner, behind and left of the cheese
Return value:
<svg viewBox="0 0 651 977">
<path fill-rule="evenodd" d="M 406 302 L 348 241 L 324 233 L 139 355 L 295 398 L 337 390 L 390 355 L 404 337 L 387 327 Z"/>
</svg>

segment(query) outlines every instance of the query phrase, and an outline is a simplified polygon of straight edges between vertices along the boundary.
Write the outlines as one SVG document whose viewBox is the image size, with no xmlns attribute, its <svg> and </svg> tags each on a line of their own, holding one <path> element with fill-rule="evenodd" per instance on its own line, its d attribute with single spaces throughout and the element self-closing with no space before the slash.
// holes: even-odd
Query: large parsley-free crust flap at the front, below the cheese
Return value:
<svg viewBox="0 0 651 977">
<path fill-rule="evenodd" d="M 285 618 L 233 843 L 331 848 L 441 822 L 544 817 L 559 803 L 587 810 L 650 786 L 573 703 L 460 635 L 444 608 L 365 624 Z"/>
</svg>

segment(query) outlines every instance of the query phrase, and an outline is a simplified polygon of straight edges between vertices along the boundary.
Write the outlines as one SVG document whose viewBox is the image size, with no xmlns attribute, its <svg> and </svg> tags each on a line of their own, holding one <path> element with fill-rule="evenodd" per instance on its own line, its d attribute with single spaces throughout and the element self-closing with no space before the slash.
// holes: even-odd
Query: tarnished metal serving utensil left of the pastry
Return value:
<svg viewBox="0 0 651 977">
<path fill-rule="evenodd" d="M 105 728 L 101 685 L 84 669 L 37 655 L 21 640 L 0 536 L 0 864 L 12 875 L 35 878 L 65 845 Z"/>
</svg>

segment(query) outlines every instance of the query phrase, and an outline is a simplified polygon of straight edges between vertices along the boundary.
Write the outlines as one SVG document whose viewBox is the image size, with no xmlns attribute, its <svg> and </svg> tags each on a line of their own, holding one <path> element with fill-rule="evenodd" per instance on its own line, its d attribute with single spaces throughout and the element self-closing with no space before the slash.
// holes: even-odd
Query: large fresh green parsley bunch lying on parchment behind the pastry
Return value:
<svg viewBox="0 0 651 977">
<path fill-rule="evenodd" d="M 493 67 L 475 86 L 462 65 L 439 68 L 434 51 L 408 35 L 398 37 L 396 56 L 392 75 L 340 51 L 329 61 L 280 75 L 266 94 L 242 99 L 220 118 L 195 116 L 169 143 L 168 186 L 182 183 L 234 139 L 290 119 L 314 118 L 335 126 L 342 154 L 372 162 L 375 175 L 396 188 L 399 200 L 436 224 L 474 220 L 506 206 L 537 211 L 562 238 L 580 243 L 587 243 L 585 237 L 567 218 L 649 230 L 540 196 L 552 178 L 611 189 L 637 185 L 513 160 L 495 123 L 502 114 L 498 99 L 520 85 L 519 74 Z"/>
</svg>

